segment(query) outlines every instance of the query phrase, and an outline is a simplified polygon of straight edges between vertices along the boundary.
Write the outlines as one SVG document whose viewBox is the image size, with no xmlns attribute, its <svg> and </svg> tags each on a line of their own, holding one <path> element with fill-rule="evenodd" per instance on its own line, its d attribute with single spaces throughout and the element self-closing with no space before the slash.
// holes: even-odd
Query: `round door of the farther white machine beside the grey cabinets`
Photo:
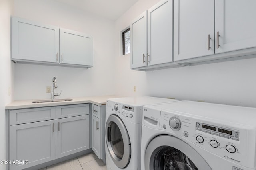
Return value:
<svg viewBox="0 0 256 170">
<path fill-rule="evenodd" d="M 130 137 L 123 121 L 111 115 L 106 121 L 106 144 L 113 162 L 119 168 L 125 168 L 130 162 Z"/>
</svg>

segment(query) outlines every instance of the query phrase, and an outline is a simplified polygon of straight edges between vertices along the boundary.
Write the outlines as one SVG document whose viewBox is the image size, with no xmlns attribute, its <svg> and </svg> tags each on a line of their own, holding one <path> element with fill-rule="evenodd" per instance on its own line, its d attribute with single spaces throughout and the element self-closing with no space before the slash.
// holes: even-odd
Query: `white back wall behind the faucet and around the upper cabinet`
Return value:
<svg viewBox="0 0 256 170">
<path fill-rule="evenodd" d="M 46 86 L 57 78 L 60 98 L 114 94 L 114 22 L 53 0 L 15 0 L 14 16 L 92 35 L 89 69 L 15 64 L 14 100 L 50 98 Z"/>
</svg>

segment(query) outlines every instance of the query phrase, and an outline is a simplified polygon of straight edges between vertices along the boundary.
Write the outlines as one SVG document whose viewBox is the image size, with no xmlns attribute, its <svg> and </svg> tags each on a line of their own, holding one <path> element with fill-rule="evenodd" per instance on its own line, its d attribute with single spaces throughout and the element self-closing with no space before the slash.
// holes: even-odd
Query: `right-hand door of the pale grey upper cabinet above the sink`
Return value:
<svg viewBox="0 0 256 170">
<path fill-rule="evenodd" d="M 92 37 L 60 29 L 60 63 L 93 66 Z"/>
</svg>

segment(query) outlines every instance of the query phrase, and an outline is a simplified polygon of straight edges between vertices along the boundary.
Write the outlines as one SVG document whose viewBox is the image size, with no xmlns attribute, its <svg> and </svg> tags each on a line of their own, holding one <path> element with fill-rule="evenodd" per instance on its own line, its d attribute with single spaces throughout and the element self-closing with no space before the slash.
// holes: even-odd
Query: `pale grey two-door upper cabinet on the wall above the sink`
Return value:
<svg viewBox="0 0 256 170">
<path fill-rule="evenodd" d="M 90 68 L 93 66 L 92 37 L 12 17 L 12 60 Z"/>
</svg>

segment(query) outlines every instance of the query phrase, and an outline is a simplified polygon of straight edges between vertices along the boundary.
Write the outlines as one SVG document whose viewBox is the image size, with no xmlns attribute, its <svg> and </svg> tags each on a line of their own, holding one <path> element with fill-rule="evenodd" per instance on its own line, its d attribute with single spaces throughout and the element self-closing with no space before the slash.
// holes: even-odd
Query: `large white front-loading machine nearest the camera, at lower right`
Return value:
<svg viewBox="0 0 256 170">
<path fill-rule="evenodd" d="M 255 170 L 256 108 L 179 101 L 144 106 L 141 170 Z"/>
</svg>

